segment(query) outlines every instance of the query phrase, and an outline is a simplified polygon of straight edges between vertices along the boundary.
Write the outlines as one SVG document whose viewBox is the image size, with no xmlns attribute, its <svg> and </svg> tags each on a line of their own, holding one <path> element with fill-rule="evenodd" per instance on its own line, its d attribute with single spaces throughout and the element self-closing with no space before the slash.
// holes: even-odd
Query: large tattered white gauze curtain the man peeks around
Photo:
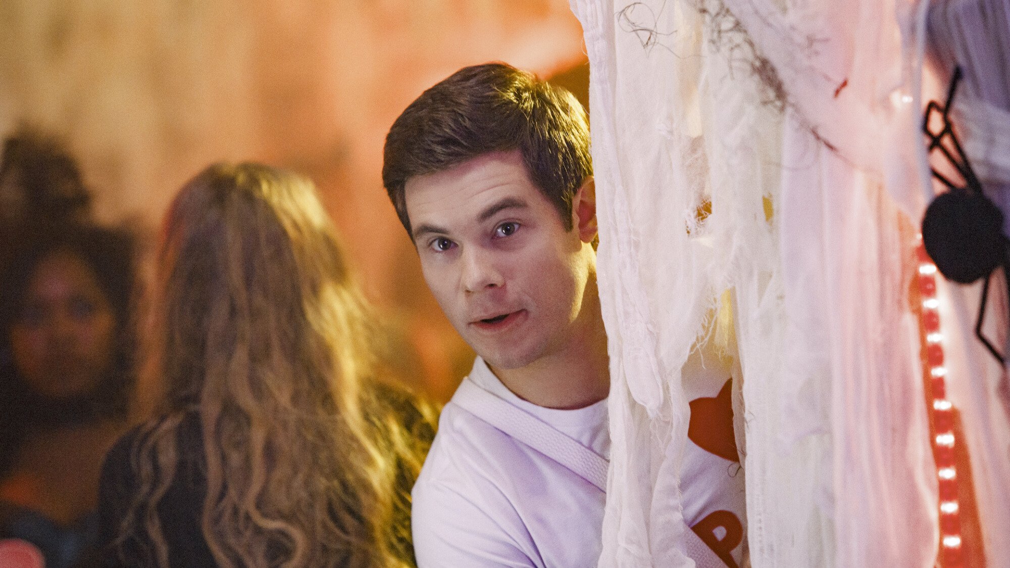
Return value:
<svg viewBox="0 0 1010 568">
<path fill-rule="evenodd" d="M 711 345 L 728 290 L 751 563 L 931 566 L 935 468 L 902 214 L 918 219 L 929 187 L 923 6 L 572 7 L 590 58 L 612 378 L 599 565 L 692 565 L 681 368 Z"/>
</svg>

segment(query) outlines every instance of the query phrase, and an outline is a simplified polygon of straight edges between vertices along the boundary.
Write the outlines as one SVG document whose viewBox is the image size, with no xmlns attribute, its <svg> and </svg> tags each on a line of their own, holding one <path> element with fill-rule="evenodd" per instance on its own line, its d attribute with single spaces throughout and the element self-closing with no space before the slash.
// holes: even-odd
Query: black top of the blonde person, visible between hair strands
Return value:
<svg viewBox="0 0 1010 568">
<path fill-rule="evenodd" d="M 105 456 L 98 492 L 99 565 L 156 565 L 155 551 L 146 540 L 129 538 L 117 547 L 119 528 L 139 489 L 133 470 L 132 449 L 142 434 L 137 427 L 122 437 Z M 176 567 L 215 566 L 214 557 L 203 537 L 201 523 L 207 492 L 203 436 L 196 414 L 189 414 L 178 430 L 177 475 L 158 503 L 158 516 L 169 549 L 169 565 Z M 137 522 L 134 520 L 134 527 Z"/>
</svg>

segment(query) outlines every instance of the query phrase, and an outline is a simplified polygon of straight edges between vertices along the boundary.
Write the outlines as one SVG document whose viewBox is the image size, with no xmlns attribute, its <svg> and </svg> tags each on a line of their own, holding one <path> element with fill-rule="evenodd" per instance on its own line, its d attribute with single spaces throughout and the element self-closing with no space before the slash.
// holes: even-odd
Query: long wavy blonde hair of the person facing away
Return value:
<svg viewBox="0 0 1010 568">
<path fill-rule="evenodd" d="M 219 565 L 412 566 L 409 491 L 434 409 L 377 380 L 376 320 L 311 182 L 211 166 L 163 230 L 141 378 L 159 417 L 136 438 L 121 535 L 146 536 L 168 566 L 157 506 L 198 415 Z"/>
</svg>

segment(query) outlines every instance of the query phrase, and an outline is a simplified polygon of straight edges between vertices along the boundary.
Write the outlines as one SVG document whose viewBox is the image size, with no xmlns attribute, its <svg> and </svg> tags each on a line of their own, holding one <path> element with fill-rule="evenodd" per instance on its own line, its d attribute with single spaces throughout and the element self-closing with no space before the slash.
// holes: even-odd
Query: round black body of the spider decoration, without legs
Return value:
<svg viewBox="0 0 1010 568">
<path fill-rule="evenodd" d="M 981 193 L 955 189 L 938 195 L 922 218 L 922 244 L 948 280 L 971 284 L 989 276 L 1006 256 L 1003 213 Z"/>
</svg>

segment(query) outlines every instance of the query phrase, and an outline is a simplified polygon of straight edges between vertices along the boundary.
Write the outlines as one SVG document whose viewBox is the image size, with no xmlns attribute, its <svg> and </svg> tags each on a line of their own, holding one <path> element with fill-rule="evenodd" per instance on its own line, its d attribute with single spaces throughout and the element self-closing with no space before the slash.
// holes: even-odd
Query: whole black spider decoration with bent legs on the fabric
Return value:
<svg viewBox="0 0 1010 568">
<path fill-rule="evenodd" d="M 926 208 L 926 214 L 922 218 L 922 242 L 936 268 L 948 280 L 971 284 L 980 278 L 986 279 L 982 287 L 975 335 L 993 357 L 1004 363 L 1006 357 L 982 335 L 982 323 L 986 315 L 989 281 L 993 271 L 1002 267 L 1005 275 L 1010 274 L 1010 257 L 1007 255 L 1010 242 L 1003 234 L 1003 213 L 983 193 L 982 183 L 953 133 L 949 112 L 961 77 L 961 68 L 954 68 L 944 106 L 941 107 L 936 101 L 929 101 L 926 105 L 922 130 L 929 138 L 929 153 L 938 150 L 961 175 L 965 185 L 954 185 L 946 176 L 931 168 L 933 177 L 949 191 L 936 196 Z M 943 121 L 943 128 L 938 133 L 929 129 L 929 119 L 933 112 L 938 113 Z M 944 144 L 945 140 L 949 140 L 949 144 Z M 1010 285 L 1010 278 L 1007 280 Z"/>
</svg>

